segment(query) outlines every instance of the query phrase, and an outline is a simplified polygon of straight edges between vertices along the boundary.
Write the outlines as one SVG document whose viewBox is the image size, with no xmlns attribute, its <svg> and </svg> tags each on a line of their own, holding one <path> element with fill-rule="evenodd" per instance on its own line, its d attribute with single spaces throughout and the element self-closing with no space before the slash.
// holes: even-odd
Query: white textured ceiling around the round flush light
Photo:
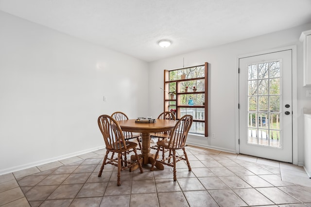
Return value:
<svg viewBox="0 0 311 207">
<path fill-rule="evenodd" d="M 311 0 L 0 0 L 0 10 L 147 62 L 311 23 Z"/>
</svg>

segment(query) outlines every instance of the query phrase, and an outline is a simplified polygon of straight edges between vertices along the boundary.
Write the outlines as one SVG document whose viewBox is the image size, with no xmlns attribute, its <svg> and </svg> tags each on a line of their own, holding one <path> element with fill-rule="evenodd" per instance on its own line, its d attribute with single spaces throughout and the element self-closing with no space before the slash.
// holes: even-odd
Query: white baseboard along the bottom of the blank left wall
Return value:
<svg viewBox="0 0 311 207">
<path fill-rule="evenodd" d="M 36 162 L 31 162 L 31 163 L 27 163 L 27 164 L 23 164 L 23 165 L 18 165 L 18 166 L 14 166 L 11 168 L 6 168 L 6 169 L 1 169 L 0 170 L 0 175 L 4 175 L 4 174 L 8 174 L 8 173 L 13 173 L 13 172 L 17 172 L 20 170 L 25 170 L 27 168 L 31 168 L 31 167 L 36 167 L 39 165 L 43 165 L 43 164 L 47 164 L 50 162 L 54 162 L 54 161 L 58 161 L 58 160 L 62 160 L 62 159 L 68 159 L 74 156 L 78 156 L 78 155 L 82 155 L 82 154 L 86 154 L 89 152 L 93 152 L 99 149 L 103 149 L 105 146 L 98 146 L 98 147 L 94 147 L 94 148 L 90 148 L 90 149 L 85 149 L 85 150 L 81 150 L 78 152 L 73 152 L 73 153 L 69 153 L 66 155 L 62 155 L 62 156 L 58 156 L 58 157 L 54 157 L 54 158 L 50 158 L 50 159 L 42 159 Z"/>
</svg>

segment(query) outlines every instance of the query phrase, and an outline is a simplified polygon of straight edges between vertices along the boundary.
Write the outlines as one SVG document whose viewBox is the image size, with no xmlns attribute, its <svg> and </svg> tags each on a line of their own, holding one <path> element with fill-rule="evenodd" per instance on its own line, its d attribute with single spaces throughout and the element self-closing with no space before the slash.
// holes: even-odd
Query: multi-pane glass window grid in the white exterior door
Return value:
<svg viewBox="0 0 311 207">
<path fill-rule="evenodd" d="M 247 143 L 280 147 L 280 61 L 248 65 Z"/>
</svg>

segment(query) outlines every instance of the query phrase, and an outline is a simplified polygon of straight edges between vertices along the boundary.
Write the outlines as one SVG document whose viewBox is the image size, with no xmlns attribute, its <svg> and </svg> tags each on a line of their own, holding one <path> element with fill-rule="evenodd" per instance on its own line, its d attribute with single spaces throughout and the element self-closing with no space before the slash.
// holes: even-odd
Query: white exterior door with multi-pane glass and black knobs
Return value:
<svg viewBox="0 0 311 207">
<path fill-rule="evenodd" d="M 240 153 L 293 162 L 292 49 L 239 59 Z"/>
</svg>

